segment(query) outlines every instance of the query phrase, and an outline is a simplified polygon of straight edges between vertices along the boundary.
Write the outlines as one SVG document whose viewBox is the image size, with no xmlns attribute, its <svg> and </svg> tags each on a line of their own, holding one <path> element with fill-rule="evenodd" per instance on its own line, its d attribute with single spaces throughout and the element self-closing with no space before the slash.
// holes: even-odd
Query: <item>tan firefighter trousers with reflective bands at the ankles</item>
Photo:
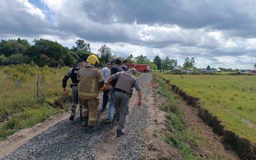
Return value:
<svg viewBox="0 0 256 160">
<path fill-rule="evenodd" d="M 93 98 L 90 100 L 85 100 L 80 98 L 83 107 L 82 107 L 82 118 L 88 119 L 88 126 L 94 127 L 97 122 L 98 115 L 98 106 L 100 104 L 99 98 Z"/>
</svg>

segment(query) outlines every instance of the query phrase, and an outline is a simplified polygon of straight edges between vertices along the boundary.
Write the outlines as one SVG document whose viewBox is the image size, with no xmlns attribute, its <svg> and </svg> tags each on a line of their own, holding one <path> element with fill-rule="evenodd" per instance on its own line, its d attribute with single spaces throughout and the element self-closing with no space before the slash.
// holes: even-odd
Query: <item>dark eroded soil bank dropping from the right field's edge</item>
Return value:
<svg viewBox="0 0 256 160">
<path fill-rule="evenodd" d="M 166 80 L 167 84 L 170 83 L 169 80 Z M 227 131 L 224 129 L 224 126 L 221 125 L 221 121 L 217 119 L 216 116 L 212 116 L 212 114 L 201 108 L 199 103 L 199 98 L 188 96 L 185 92 L 183 92 L 178 86 L 174 84 L 170 84 L 172 90 L 178 94 L 183 100 L 187 101 L 187 104 L 198 108 L 198 116 L 206 122 L 207 125 L 212 127 L 212 131 L 216 132 L 219 136 L 222 136 L 222 142 L 228 143 L 231 148 L 236 150 L 237 154 L 243 159 L 256 159 L 256 146 L 252 145 L 249 140 L 239 137 L 234 132 Z"/>
</svg>

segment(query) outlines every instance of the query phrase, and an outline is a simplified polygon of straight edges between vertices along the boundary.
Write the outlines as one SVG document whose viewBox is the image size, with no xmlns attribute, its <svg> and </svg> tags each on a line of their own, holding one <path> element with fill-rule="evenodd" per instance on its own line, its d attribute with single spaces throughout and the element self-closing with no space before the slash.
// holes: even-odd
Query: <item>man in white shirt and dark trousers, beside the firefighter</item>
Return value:
<svg viewBox="0 0 256 160">
<path fill-rule="evenodd" d="M 109 69 L 111 68 L 111 63 L 108 62 L 106 67 L 101 69 L 101 74 L 103 75 L 105 81 L 108 81 L 110 77 Z M 108 104 L 108 91 L 103 91 L 103 103 L 102 103 L 102 111 L 105 111 L 106 106 Z"/>
</svg>

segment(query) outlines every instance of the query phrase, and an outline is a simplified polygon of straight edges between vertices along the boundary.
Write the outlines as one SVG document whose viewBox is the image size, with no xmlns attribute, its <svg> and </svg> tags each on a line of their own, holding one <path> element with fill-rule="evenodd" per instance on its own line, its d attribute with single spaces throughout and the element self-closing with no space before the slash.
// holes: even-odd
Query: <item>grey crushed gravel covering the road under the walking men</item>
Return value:
<svg viewBox="0 0 256 160">
<path fill-rule="evenodd" d="M 147 84 L 152 74 L 146 73 L 137 77 L 142 87 L 142 103 L 149 94 Z M 133 96 L 136 96 L 134 92 Z M 88 134 L 79 122 L 79 112 L 74 121 L 65 119 L 50 127 L 47 131 L 28 140 L 20 148 L 2 159 L 94 159 L 94 151 L 98 142 L 108 136 L 115 125 L 104 124 L 99 119 L 106 118 L 108 111 L 101 112 L 102 98 L 100 99 L 98 122 L 96 132 Z M 139 152 L 146 146 L 143 130 L 148 125 L 148 106 L 142 104 L 140 108 L 136 103 L 130 108 L 129 122 L 125 124 L 125 134 L 122 136 L 117 159 L 140 159 Z M 116 126 L 115 126 L 116 127 Z"/>
</svg>

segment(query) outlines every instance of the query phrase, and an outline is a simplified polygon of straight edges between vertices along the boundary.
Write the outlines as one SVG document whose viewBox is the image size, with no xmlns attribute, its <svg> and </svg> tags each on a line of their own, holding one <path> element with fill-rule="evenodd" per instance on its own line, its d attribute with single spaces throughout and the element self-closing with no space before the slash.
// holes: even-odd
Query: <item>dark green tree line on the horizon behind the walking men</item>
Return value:
<svg viewBox="0 0 256 160">
<path fill-rule="evenodd" d="M 60 68 L 62 66 L 74 67 L 78 59 L 86 60 L 91 54 L 95 54 L 99 58 L 99 68 L 105 66 L 107 62 L 114 65 L 118 55 L 112 54 L 111 49 L 106 45 L 102 45 L 98 49 L 98 53 L 91 51 L 90 44 L 84 40 L 78 39 L 71 49 L 64 47 L 57 41 L 53 42 L 47 39 L 35 39 L 33 45 L 28 40 L 18 38 L 4 40 L 0 42 L 0 65 L 17 65 L 35 63 L 39 67 L 49 66 Z M 177 60 L 166 57 L 161 60 L 156 56 L 151 62 L 147 56 L 140 55 L 133 58 L 132 54 L 127 57 L 119 57 L 122 60 L 128 60 L 134 64 L 151 64 L 153 69 L 172 69 L 177 66 Z"/>
</svg>

